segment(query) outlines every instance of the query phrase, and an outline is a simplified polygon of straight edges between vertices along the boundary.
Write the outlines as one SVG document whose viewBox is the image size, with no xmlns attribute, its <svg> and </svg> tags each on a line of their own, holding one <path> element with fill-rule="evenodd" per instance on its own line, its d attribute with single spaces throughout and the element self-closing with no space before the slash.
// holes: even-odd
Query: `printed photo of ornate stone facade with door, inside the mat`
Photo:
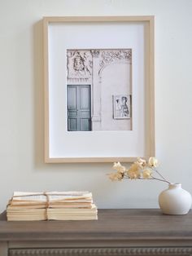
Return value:
<svg viewBox="0 0 192 256">
<path fill-rule="evenodd" d="M 67 51 L 68 131 L 132 130 L 132 50 Z"/>
</svg>

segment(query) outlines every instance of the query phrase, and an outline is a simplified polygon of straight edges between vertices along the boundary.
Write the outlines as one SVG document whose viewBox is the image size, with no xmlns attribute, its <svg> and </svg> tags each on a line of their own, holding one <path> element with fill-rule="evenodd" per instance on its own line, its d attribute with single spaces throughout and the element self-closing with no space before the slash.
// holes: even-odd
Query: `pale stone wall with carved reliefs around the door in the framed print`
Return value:
<svg viewBox="0 0 192 256">
<path fill-rule="evenodd" d="M 132 130 L 131 117 L 114 118 L 113 102 L 132 94 L 131 60 L 131 49 L 68 50 L 68 85 L 91 86 L 92 130 Z"/>
</svg>

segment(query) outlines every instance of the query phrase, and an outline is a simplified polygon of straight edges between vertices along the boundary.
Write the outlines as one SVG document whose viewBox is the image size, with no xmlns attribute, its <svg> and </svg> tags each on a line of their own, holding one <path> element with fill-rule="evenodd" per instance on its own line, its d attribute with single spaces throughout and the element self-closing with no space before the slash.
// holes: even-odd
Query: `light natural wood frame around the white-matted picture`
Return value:
<svg viewBox="0 0 192 256">
<path fill-rule="evenodd" d="M 50 114 L 49 114 L 49 98 L 50 98 L 50 91 L 49 91 L 49 25 L 50 24 L 68 24 L 68 23 L 142 23 L 149 27 L 149 31 L 147 36 L 145 35 L 145 40 L 149 40 L 149 52 L 146 55 L 147 65 L 146 67 L 149 68 L 146 72 L 147 78 L 147 86 L 150 87 L 150 97 L 147 100 L 147 104 L 150 104 L 149 111 L 147 111 L 147 129 L 150 130 L 149 138 L 147 139 L 146 148 L 149 148 L 145 156 L 133 156 L 133 157 L 51 157 L 50 156 Z M 139 16 L 46 16 L 43 18 L 43 42 L 44 42 L 44 111 L 45 111 L 45 162 L 46 163 L 76 163 L 76 162 L 113 162 L 113 161 L 121 161 L 121 162 L 133 162 L 137 160 L 137 157 L 148 158 L 148 157 L 155 157 L 155 53 L 154 53 L 154 22 L 155 18 L 153 15 L 139 15 Z M 68 35 L 66 35 L 68 36 Z"/>
</svg>

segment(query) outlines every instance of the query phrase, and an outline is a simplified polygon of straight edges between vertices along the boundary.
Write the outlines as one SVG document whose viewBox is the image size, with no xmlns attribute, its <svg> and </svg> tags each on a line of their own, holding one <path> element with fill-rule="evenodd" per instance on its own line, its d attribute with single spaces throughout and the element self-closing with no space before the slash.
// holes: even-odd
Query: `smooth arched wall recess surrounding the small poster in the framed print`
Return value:
<svg viewBox="0 0 192 256">
<path fill-rule="evenodd" d="M 101 117 L 103 130 L 132 130 L 131 119 L 113 118 L 113 95 L 131 94 L 131 65 L 121 62 L 108 65 L 101 74 Z"/>
</svg>

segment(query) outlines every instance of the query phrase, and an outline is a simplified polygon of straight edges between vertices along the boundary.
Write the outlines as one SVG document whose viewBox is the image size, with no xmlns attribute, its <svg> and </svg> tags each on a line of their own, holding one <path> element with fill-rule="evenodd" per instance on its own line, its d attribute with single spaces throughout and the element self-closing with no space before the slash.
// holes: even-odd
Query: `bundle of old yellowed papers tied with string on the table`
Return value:
<svg viewBox="0 0 192 256">
<path fill-rule="evenodd" d="M 91 192 L 14 192 L 7 221 L 98 219 Z"/>
</svg>

